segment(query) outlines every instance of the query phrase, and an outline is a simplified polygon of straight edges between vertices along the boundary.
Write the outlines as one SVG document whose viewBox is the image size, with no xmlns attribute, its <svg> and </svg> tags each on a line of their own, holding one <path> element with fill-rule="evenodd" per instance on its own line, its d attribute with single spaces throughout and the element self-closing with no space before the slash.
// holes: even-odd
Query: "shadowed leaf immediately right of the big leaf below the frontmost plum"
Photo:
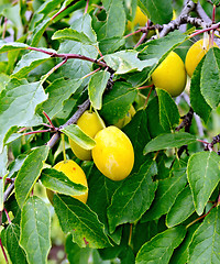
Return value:
<svg viewBox="0 0 220 264">
<path fill-rule="evenodd" d="M 186 183 L 185 170 L 176 172 L 175 176 L 158 180 L 155 199 L 148 211 L 143 216 L 142 222 L 158 219 L 167 213 Z"/>
</svg>

